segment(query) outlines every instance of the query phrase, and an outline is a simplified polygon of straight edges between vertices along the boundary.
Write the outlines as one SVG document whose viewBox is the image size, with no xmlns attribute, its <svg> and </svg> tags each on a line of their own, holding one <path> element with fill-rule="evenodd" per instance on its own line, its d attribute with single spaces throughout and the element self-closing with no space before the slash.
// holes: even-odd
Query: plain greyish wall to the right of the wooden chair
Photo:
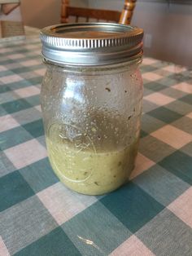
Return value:
<svg viewBox="0 0 192 256">
<path fill-rule="evenodd" d="M 133 24 L 151 35 L 146 55 L 192 67 L 192 5 L 138 2 Z"/>
</svg>

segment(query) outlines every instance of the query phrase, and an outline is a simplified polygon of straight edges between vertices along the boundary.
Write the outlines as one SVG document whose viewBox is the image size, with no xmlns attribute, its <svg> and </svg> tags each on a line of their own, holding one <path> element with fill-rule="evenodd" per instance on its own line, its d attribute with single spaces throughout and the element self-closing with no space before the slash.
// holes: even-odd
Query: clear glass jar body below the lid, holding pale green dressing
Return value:
<svg viewBox="0 0 192 256">
<path fill-rule="evenodd" d="M 68 188 L 100 195 L 129 179 L 141 125 L 140 62 L 47 64 L 41 86 L 46 146 L 55 174 Z"/>
</svg>

